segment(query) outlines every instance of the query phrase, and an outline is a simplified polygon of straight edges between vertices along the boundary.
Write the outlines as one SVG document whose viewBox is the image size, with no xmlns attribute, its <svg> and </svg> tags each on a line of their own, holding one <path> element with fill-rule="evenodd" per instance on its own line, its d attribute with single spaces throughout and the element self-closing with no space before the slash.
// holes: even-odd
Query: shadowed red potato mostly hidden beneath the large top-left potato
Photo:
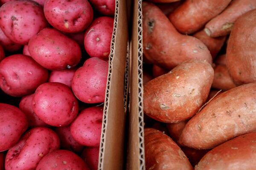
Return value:
<svg viewBox="0 0 256 170">
<path fill-rule="evenodd" d="M 11 41 L 6 35 L 3 33 L 2 29 L 0 28 L 0 44 L 2 47 L 9 52 L 18 51 L 22 45 L 17 44 Z"/>
</svg>

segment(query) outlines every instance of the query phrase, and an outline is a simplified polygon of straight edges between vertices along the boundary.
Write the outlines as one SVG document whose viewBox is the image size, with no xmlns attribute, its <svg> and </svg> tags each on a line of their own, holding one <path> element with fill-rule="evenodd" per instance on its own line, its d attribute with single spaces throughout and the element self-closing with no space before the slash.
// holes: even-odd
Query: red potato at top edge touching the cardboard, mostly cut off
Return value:
<svg viewBox="0 0 256 170">
<path fill-rule="evenodd" d="M 115 14 L 115 0 L 90 0 L 90 3 L 93 4 L 97 11 L 104 15 Z"/>
</svg>

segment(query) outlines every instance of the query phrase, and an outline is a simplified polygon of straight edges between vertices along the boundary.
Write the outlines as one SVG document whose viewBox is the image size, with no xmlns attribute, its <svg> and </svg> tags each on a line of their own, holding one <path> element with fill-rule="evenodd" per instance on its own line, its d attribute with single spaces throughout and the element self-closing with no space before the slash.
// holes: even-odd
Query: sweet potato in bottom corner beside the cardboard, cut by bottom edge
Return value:
<svg viewBox="0 0 256 170">
<path fill-rule="evenodd" d="M 146 170 L 193 170 L 189 160 L 173 140 L 152 128 L 145 128 Z"/>
</svg>

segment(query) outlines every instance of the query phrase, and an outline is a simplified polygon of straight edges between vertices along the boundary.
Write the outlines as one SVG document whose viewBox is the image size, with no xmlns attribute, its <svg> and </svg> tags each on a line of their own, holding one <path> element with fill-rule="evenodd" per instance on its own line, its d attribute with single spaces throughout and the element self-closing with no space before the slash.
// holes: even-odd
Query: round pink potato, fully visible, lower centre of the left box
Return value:
<svg viewBox="0 0 256 170">
<path fill-rule="evenodd" d="M 78 101 L 70 88 L 59 82 L 40 85 L 32 99 L 35 114 L 51 126 L 69 125 L 78 113 Z"/>
</svg>

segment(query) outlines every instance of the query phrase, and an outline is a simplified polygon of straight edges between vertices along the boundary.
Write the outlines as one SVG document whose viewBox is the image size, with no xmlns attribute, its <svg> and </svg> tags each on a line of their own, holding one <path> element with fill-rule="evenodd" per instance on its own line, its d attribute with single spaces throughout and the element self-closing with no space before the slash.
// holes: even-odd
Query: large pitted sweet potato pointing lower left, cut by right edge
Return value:
<svg viewBox="0 0 256 170">
<path fill-rule="evenodd" d="M 210 149 L 256 130 L 256 83 L 226 91 L 209 102 L 183 129 L 179 143 Z"/>
</svg>

